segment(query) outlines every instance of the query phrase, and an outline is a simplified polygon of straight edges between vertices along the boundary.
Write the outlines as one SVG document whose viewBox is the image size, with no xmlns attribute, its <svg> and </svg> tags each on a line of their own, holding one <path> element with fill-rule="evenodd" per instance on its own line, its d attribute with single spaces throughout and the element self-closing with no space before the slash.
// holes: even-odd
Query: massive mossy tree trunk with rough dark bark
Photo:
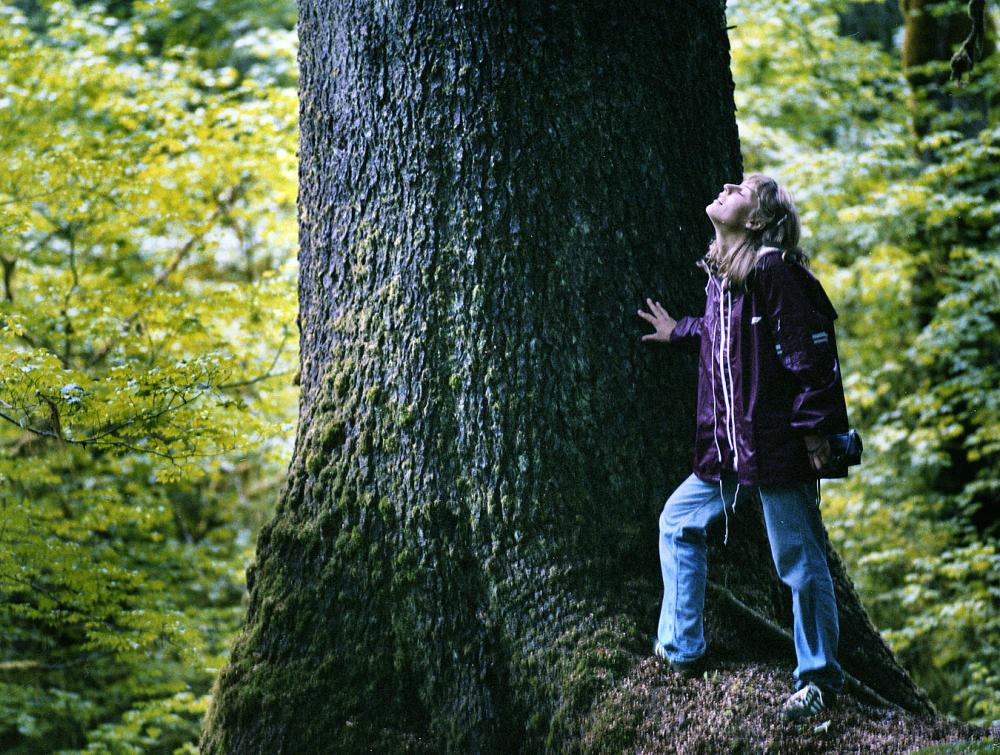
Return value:
<svg viewBox="0 0 1000 755">
<path fill-rule="evenodd" d="M 700 308 L 740 176 L 721 4 L 302 0 L 299 28 L 300 422 L 204 750 L 793 741 L 760 723 L 793 658 L 759 509 L 712 543 L 721 676 L 649 658 L 695 365 L 634 313 Z M 848 670 L 930 712 L 835 574 Z M 739 679 L 731 730 L 678 724 Z"/>
</svg>

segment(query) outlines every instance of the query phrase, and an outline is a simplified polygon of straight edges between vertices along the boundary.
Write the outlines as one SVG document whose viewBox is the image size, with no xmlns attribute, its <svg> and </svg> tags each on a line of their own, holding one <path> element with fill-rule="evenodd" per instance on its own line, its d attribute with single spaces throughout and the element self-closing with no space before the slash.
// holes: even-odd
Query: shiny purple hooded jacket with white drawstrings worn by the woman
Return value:
<svg viewBox="0 0 1000 755">
<path fill-rule="evenodd" d="M 703 317 L 683 317 L 671 343 L 698 349 L 694 473 L 741 485 L 815 480 L 805 435 L 846 432 L 837 312 L 819 281 L 765 247 L 746 291 L 710 276 Z"/>
</svg>

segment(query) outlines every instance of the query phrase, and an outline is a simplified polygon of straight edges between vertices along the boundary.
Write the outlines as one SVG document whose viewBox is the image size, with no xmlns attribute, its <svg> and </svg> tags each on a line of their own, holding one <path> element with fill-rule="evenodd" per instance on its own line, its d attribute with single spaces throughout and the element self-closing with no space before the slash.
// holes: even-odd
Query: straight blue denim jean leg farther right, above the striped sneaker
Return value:
<svg viewBox="0 0 1000 755">
<path fill-rule="evenodd" d="M 774 565 L 792 590 L 797 686 L 814 682 L 840 692 L 844 673 L 837 661 L 837 599 L 815 484 L 762 486 L 760 499 Z"/>
</svg>

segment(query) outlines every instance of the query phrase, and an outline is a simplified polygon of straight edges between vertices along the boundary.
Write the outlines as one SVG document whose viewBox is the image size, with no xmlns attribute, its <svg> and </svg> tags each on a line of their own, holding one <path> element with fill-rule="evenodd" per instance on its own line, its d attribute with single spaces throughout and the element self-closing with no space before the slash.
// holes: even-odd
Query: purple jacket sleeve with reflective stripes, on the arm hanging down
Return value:
<svg viewBox="0 0 1000 755">
<path fill-rule="evenodd" d="M 778 361 L 794 382 L 792 429 L 803 434 L 846 431 L 833 305 L 810 273 L 788 263 L 761 271 L 759 280 Z"/>
</svg>

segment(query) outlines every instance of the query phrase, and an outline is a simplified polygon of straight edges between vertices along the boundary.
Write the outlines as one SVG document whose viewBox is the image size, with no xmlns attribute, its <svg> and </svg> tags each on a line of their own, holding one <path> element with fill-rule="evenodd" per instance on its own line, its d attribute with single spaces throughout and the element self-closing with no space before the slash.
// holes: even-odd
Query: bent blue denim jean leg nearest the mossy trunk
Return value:
<svg viewBox="0 0 1000 755">
<path fill-rule="evenodd" d="M 729 500 L 733 486 L 724 487 Z M 663 603 L 656 635 L 672 661 L 693 661 L 705 652 L 705 529 L 722 516 L 722 509 L 718 483 L 692 474 L 671 494 L 660 514 Z"/>
</svg>

